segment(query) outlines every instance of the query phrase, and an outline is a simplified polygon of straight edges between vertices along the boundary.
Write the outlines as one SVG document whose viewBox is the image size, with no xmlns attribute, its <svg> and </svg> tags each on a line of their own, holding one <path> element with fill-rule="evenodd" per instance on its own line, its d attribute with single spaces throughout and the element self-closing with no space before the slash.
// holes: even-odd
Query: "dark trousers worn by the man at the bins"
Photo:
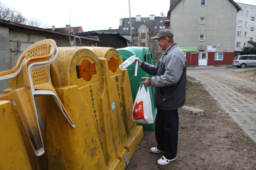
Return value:
<svg viewBox="0 0 256 170">
<path fill-rule="evenodd" d="M 178 150 L 179 115 L 178 109 L 157 109 L 156 114 L 156 142 L 157 149 L 165 151 L 166 159 L 176 157 Z"/>
</svg>

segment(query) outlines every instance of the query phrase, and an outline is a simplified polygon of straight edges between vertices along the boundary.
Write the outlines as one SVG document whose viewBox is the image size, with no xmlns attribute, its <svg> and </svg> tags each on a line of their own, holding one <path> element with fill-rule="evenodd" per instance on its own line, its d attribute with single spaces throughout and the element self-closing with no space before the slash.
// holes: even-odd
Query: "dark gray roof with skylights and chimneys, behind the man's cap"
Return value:
<svg viewBox="0 0 256 170">
<path fill-rule="evenodd" d="M 138 27 L 140 25 L 142 25 L 143 23 L 149 27 L 151 30 L 154 31 L 154 27 L 157 27 L 157 29 L 155 30 L 156 33 L 159 30 L 160 26 L 164 26 L 164 20 L 166 20 L 167 17 L 154 17 L 154 20 L 150 20 L 149 17 L 141 17 L 140 21 L 136 21 L 136 18 L 131 18 L 131 22 L 132 22 L 132 27 L 134 27 L 134 29 L 132 29 L 132 34 L 137 34 L 138 33 Z M 130 35 L 130 18 L 123 18 L 122 19 L 122 25 L 119 26 L 118 28 L 118 33 L 120 33 L 120 35 Z M 162 21 L 162 22 L 160 22 Z M 128 28 L 128 29 L 126 29 Z"/>
</svg>

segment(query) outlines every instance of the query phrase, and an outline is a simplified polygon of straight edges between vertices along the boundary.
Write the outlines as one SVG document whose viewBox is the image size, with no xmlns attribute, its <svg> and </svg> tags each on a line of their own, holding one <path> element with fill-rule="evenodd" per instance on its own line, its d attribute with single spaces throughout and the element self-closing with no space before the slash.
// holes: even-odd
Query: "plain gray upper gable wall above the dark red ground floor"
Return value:
<svg viewBox="0 0 256 170">
<path fill-rule="evenodd" d="M 200 6 L 200 0 L 182 0 L 170 15 L 170 29 L 179 47 L 216 45 L 216 52 L 234 52 L 237 8 L 229 0 L 209 0 Z M 205 24 L 200 24 L 205 17 Z M 199 41 L 200 34 L 205 41 Z M 219 45 L 219 47 L 218 47 Z"/>
</svg>

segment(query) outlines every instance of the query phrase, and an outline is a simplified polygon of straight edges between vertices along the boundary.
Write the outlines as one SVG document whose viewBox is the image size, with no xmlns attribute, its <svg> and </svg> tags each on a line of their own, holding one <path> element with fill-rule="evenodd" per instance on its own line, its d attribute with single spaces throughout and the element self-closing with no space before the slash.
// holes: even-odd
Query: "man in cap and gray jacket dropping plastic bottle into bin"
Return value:
<svg viewBox="0 0 256 170">
<path fill-rule="evenodd" d="M 169 29 L 158 31 L 156 37 L 158 45 L 164 51 L 156 66 L 144 63 L 139 59 L 138 66 L 152 78 L 142 77 L 144 86 L 155 87 L 155 105 L 157 107 L 155 135 L 157 146 L 150 150 L 154 153 L 163 152 L 164 155 L 157 163 L 168 164 L 176 159 L 178 149 L 179 116 L 178 108 L 182 107 L 186 99 L 186 57 L 173 40 L 173 33 Z"/>
</svg>

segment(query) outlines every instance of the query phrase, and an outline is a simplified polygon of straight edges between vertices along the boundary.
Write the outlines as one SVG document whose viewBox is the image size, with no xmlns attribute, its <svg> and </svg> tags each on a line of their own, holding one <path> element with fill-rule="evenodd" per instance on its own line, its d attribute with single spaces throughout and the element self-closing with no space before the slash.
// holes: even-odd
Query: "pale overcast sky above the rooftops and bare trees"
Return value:
<svg viewBox="0 0 256 170">
<path fill-rule="evenodd" d="M 256 0 L 234 0 L 256 6 Z M 83 31 L 118 29 L 120 18 L 129 18 L 129 0 L 0 0 L 7 7 L 20 11 L 30 19 L 41 21 L 46 27 L 82 26 Z M 130 0 L 131 17 L 161 16 L 167 12 L 170 0 Z"/>
</svg>

